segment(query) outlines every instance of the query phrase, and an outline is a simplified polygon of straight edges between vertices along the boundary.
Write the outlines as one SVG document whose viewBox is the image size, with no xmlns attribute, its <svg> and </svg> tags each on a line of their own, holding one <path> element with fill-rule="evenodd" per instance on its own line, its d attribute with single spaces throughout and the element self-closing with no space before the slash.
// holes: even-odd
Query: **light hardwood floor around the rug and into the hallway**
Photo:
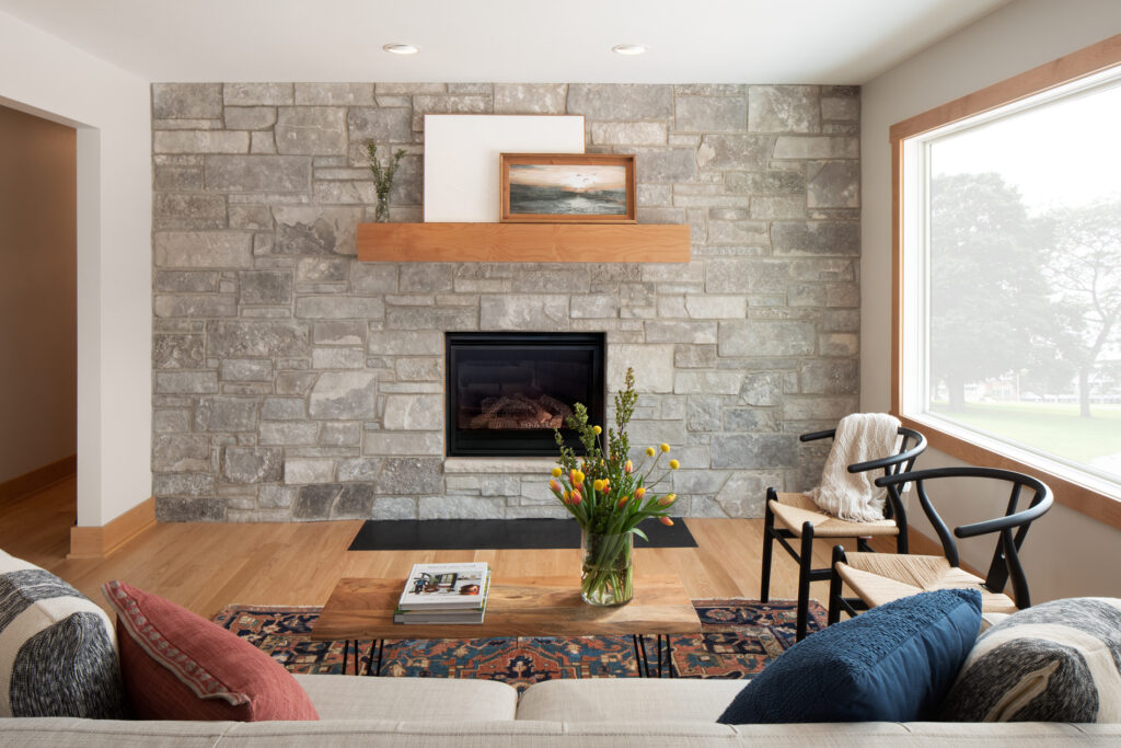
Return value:
<svg viewBox="0 0 1121 748">
<path fill-rule="evenodd" d="M 416 562 L 485 561 L 495 576 L 575 574 L 576 550 L 350 552 L 360 520 L 268 525 L 160 524 L 100 561 L 67 560 L 74 481 L 0 507 L 0 548 L 58 574 L 104 604 L 100 587 L 120 579 L 210 618 L 223 606 L 322 606 L 343 576 L 405 576 Z M 696 548 L 643 548 L 643 573 L 677 574 L 689 597 L 759 598 L 762 519 L 688 519 Z M 843 543 L 851 547 L 853 544 Z M 828 565 L 832 542 L 815 544 Z M 823 601 L 827 582 L 810 597 Z M 794 598 L 797 566 L 776 548 L 772 598 Z"/>
</svg>

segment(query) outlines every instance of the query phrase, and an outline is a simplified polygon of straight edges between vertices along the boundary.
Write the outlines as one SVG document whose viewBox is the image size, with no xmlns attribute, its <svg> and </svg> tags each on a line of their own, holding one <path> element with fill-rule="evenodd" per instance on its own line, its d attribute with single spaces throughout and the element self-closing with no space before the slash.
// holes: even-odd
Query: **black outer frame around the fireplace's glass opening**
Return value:
<svg viewBox="0 0 1121 748">
<path fill-rule="evenodd" d="M 589 422 L 604 424 L 606 415 L 606 334 L 602 332 L 448 332 L 444 334 L 444 414 L 446 424 L 445 452 L 450 458 L 529 458 L 557 456 L 552 430 L 493 431 L 460 430 L 456 424 L 456 388 L 453 381 L 453 357 L 456 351 L 480 348 L 534 348 L 586 350 L 592 354 L 592 397 L 584 403 Z M 604 426 L 604 431 L 606 427 Z M 584 453 L 576 433 L 567 426 L 560 430 L 565 444 L 577 454 Z"/>
</svg>

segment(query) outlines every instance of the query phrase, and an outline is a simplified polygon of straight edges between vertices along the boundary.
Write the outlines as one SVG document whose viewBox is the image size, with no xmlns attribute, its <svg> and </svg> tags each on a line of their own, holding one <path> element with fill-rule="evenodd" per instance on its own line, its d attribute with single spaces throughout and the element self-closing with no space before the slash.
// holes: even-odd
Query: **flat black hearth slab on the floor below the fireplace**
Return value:
<svg viewBox="0 0 1121 748">
<path fill-rule="evenodd" d="M 697 542 L 674 518 L 640 526 L 650 542 L 634 536 L 637 548 L 695 548 Z M 348 551 L 470 551 L 493 548 L 578 548 L 580 526 L 572 519 L 368 519 Z"/>
</svg>

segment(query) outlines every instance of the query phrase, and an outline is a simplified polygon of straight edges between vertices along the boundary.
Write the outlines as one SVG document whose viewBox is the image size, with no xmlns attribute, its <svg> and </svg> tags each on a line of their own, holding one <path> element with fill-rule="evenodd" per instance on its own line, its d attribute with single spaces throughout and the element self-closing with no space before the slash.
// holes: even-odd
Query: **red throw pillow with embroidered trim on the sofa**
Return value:
<svg viewBox="0 0 1121 748">
<path fill-rule="evenodd" d="M 317 720 L 279 663 L 205 618 L 131 584 L 106 582 L 121 675 L 141 720 Z"/>
</svg>

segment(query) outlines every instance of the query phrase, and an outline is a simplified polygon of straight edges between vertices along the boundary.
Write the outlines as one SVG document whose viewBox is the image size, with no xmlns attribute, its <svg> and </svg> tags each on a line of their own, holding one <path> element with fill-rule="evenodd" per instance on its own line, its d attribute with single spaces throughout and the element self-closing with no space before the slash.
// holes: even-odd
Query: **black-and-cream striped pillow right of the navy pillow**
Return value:
<svg viewBox="0 0 1121 748">
<path fill-rule="evenodd" d="M 1121 722 L 1121 600 L 1055 600 L 993 626 L 965 661 L 942 718 Z"/>
</svg>

